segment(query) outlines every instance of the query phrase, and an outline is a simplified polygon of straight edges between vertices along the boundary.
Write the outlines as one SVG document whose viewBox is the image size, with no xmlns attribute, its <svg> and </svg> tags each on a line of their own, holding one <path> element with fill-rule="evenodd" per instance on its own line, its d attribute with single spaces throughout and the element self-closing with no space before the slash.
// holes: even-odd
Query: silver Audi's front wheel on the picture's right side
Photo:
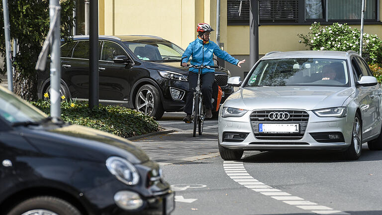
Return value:
<svg viewBox="0 0 382 215">
<path fill-rule="evenodd" d="M 362 153 L 362 121 L 356 112 L 353 122 L 352 144 L 344 151 L 346 160 L 358 160 Z"/>
</svg>

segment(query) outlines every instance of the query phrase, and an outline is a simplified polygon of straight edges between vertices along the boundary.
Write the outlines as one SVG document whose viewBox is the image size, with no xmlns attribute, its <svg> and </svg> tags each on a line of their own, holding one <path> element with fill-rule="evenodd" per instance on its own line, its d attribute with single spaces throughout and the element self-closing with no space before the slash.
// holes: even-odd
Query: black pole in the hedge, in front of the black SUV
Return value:
<svg viewBox="0 0 382 215">
<path fill-rule="evenodd" d="M 90 2 L 90 58 L 89 58 L 89 108 L 98 107 L 99 74 L 98 74 L 98 1 Z"/>
</svg>

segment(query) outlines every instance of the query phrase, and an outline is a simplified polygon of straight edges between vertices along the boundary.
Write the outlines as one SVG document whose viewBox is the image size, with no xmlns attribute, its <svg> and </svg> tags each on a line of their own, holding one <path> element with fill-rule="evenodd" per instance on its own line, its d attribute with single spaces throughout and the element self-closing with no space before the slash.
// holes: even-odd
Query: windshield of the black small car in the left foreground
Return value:
<svg viewBox="0 0 382 215">
<path fill-rule="evenodd" d="M 10 123 L 38 122 L 48 116 L 0 87 L 0 116 Z"/>
</svg>

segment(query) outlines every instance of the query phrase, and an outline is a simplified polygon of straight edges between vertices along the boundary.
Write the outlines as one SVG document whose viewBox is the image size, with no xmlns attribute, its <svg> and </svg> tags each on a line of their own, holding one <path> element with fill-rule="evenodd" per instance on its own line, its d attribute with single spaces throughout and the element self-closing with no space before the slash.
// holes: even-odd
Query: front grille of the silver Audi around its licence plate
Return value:
<svg viewBox="0 0 382 215">
<path fill-rule="evenodd" d="M 288 119 L 270 119 L 271 112 L 288 112 Z M 264 140 L 296 140 L 304 136 L 309 120 L 309 114 L 304 110 L 254 110 L 251 115 L 253 134 L 257 139 Z M 298 123 L 298 133 L 262 133 L 259 132 L 259 123 Z"/>
</svg>

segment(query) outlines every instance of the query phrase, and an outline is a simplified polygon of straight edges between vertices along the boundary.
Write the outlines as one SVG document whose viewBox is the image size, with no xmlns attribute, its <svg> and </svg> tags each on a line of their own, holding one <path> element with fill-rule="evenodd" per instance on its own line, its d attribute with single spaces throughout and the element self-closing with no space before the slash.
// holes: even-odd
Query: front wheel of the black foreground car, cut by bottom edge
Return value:
<svg viewBox="0 0 382 215">
<path fill-rule="evenodd" d="M 33 215 L 38 211 L 44 215 L 53 213 L 58 215 L 81 215 L 80 211 L 67 201 L 51 196 L 27 199 L 17 204 L 7 215 Z"/>
</svg>

